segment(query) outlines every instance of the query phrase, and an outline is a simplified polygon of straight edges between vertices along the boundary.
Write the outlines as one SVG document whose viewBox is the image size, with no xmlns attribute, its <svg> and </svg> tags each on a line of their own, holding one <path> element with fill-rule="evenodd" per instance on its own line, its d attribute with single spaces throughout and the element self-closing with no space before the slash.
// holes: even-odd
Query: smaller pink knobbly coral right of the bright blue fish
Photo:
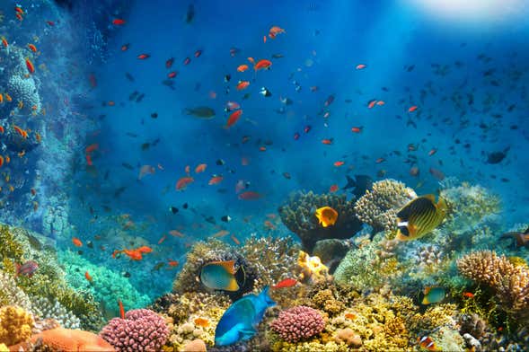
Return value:
<svg viewBox="0 0 529 352">
<path fill-rule="evenodd" d="M 304 305 L 280 312 L 278 319 L 271 324 L 272 330 L 287 342 L 311 338 L 322 332 L 324 327 L 322 314 Z"/>
</svg>

